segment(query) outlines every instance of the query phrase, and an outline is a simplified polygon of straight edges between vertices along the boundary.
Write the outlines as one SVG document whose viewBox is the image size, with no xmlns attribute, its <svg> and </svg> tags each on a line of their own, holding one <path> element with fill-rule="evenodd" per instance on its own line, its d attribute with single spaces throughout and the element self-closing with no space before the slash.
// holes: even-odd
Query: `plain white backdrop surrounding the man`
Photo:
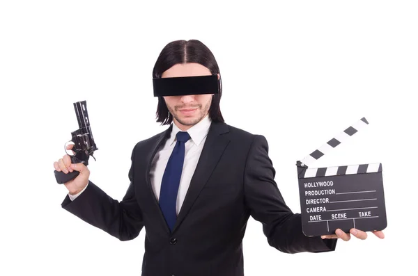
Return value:
<svg viewBox="0 0 418 276">
<path fill-rule="evenodd" d="M 295 162 L 361 117 L 369 126 L 316 166 L 383 166 L 384 240 L 369 233 L 335 252 L 284 254 L 250 218 L 246 275 L 416 270 L 414 2 L 1 1 L 0 275 L 140 275 L 144 230 L 121 242 L 63 210 L 53 163 L 77 129 L 72 103 L 86 100 L 99 148 L 91 179 L 121 200 L 133 146 L 165 129 L 155 122 L 152 70 L 179 39 L 215 54 L 226 122 L 268 138 L 293 211 Z"/>
</svg>

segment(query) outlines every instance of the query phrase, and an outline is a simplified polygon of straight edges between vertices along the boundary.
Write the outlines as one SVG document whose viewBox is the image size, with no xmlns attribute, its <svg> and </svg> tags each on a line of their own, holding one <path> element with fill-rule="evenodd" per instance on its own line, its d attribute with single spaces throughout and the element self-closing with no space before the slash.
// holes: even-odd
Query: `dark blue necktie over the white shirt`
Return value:
<svg viewBox="0 0 418 276">
<path fill-rule="evenodd" d="M 162 176 L 160 190 L 160 208 L 171 231 L 177 220 L 176 202 L 181 172 L 185 161 L 185 143 L 189 140 L 189 133 L 178 131 L 176 146 L 171 153 L 167 167 Z"/>
</svg>

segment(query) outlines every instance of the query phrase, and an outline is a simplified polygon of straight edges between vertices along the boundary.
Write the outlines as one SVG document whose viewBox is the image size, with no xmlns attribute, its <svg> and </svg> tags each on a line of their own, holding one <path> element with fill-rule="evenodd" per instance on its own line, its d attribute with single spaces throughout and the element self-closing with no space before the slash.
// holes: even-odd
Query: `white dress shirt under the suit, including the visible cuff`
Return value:
<svg viewBox="0 0 418 276">
<path fill-rule="evenodd" d="M 183 205 L 183 201 L 185 200 L 190 180 L 192 179 L 203 149 L 203 145 L 205 144 L 206 137 L 208 136 L 209 127 L 210 117 L 209 115 L 206 115 L 206 117 L 204 117 L 199 123 L 187 129 L 190 139 L 185 143 L 185 161 L 183 164 L 183 172 L 180 178 L 180 186 L 178 187 L 177 194 L 177 214 L 179 213 L 180 208 Z M 160 199 L 162 176 L 169 161 L 171 152 L 173 152 L 174 146 L 176 145 L 176 134 L 178 131 L 180 131 L 180 129 L 173 123 L 170 138 L 167 139 L 157 154 L 155 154 L 150 168 L 151 185 L 153 186 L 153 191 L 157 200 Z M 87 186 L 76 195 L 68 194 L 70 200 L 75 200 L 75 198 L 81 195 L 86 188 Z"/>
</svg>

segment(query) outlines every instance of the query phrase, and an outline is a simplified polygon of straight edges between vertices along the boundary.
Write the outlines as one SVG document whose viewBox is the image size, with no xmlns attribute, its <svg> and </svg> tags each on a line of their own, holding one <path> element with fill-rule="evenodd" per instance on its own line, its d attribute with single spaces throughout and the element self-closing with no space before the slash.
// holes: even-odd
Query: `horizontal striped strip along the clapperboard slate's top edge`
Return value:
<svg viewBox="0 0 418 276">
<path fill-rule="evenodd" d="M 382 163 L 342 165 L 327 168 L 307 168 L 306 170 L 302 170 L 298 175 L 298 178 L 329 177 L 333 175 L 362 174 L 370 172 L 382 172 Z"/>
</svg>

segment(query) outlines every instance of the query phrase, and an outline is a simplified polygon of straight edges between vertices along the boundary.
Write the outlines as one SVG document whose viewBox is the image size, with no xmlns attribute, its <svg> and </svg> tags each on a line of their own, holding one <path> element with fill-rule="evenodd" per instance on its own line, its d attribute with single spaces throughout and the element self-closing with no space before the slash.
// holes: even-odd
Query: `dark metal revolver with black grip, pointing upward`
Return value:
<svg viewBox="0 0 418 276">
<path fill-rule="evenodd" d="M 84 163 L 84 165 L 88 165 L 88 159 L 93 157 L 93 152 L 98 150 L 96 147 L 93 135 L 91 133 L 90 121 L 88 120 L 88 113 L 87 113 L 87 103 L 86 101 L 75 102 L 74 103 L 75 115 L 77 115 L 77 121 L 79 124 L 79 129 L 76 131 L 72 131 L 71 133 L 71 140 L 65 143 L 64 149 L 65 153 L 67 152 L 67 145 L 68 143 L 74 143 L 72 147 L 72 151 L 75 152 L 74 155 L 68 154 L 71 159 L 71 163 Z M 73 170 L 72 172 L 68 172 L 65 174 L 64 172 L 58 172 L 54 170 L 56 182 L 58 184 L 64 184 L 72 179 L 75 179 L 79 172 Z"/>
</svg>

